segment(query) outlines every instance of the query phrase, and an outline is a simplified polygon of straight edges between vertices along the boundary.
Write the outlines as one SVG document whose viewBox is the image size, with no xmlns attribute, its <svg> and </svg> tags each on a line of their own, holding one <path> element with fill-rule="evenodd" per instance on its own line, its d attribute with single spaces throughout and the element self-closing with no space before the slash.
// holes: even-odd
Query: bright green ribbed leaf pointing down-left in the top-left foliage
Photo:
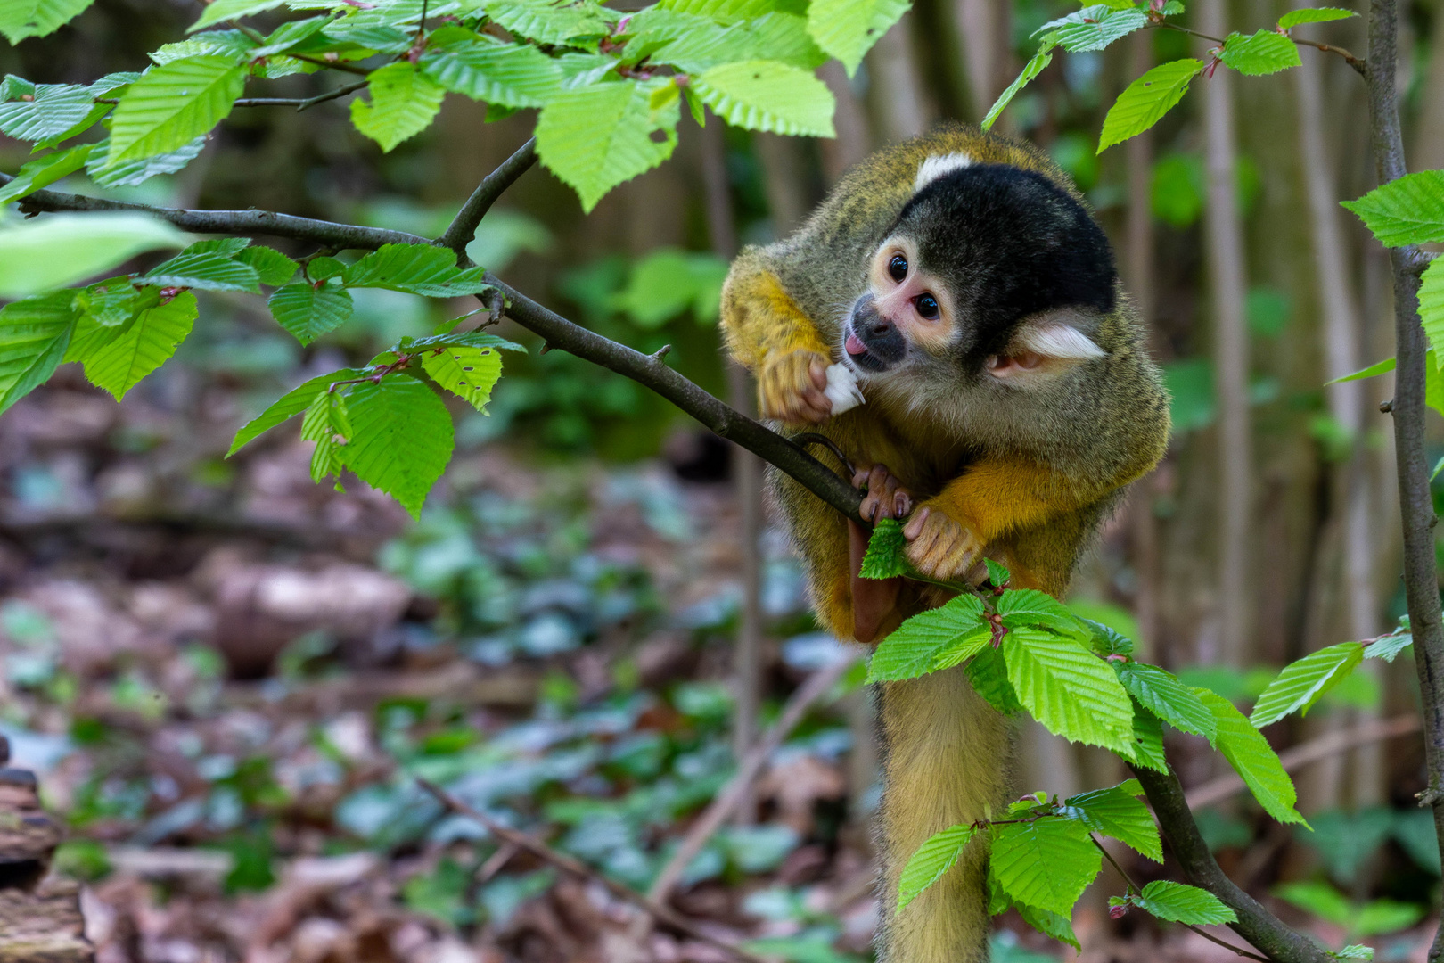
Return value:
<svg viewBox="0 0 1444 963">
<path fill-rule="evenodd" d="M 224 56 L 150 68 L 116 107 L 105 167 L 189 144 L 231 113 L 244 87 L 245 68 Z"/>
</svg>

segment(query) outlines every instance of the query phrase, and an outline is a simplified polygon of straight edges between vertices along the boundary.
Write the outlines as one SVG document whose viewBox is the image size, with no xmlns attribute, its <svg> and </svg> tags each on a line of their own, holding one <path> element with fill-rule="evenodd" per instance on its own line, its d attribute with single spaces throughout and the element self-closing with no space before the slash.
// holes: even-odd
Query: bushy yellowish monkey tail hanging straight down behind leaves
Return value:
<svg viewBox="0 0 1444 963">
<path fill-rule="evenodd" d="M 962 668 L 884 683 L 879 963 L 986 963 L 988 862 L 975 839 L 957 865 L 901 912 L 898 873 L 928 836 L 1001 811 L 1008 796 L 1011 726 L 973 692 Z"/>
</svg>

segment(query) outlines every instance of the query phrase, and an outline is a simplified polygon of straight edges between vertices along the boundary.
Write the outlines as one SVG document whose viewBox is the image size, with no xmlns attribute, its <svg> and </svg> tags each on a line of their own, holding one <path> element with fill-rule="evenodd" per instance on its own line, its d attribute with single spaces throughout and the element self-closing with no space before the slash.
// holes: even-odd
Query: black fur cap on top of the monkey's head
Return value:
<svg viewBox="0 0 1444 963">
<path fill-rule="evenodd" d="M 1028 315 L 1082 308 L 1108 315 L 1118 270 L 1087 209 L 1041 173 L 973 163 L 924 185 L 894 234 L 953 286 L 969 360 L 996 354 Z"/>
</svg>

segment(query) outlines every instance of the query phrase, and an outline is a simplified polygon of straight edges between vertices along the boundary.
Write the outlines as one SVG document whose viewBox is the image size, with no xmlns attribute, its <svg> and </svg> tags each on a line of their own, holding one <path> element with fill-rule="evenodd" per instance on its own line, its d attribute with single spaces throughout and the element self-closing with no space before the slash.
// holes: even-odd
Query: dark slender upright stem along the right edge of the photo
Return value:
<svg viewBox="0 0 1444 963">
<path fill-rule="evenodd" d="M 1396 0 L 1369 3 L 1369 117 L 1379 183 L 1402 178 L 1404 137 L 1395 91 L 1399 10 Z M 1424 755 L 1428 787 L 1419 804 L 1434 809 L 1434 830 L 1444 852 L 1444 622 L 1434 573 L 1434 500 L 1424 456 L 1424 381 L 1428 342 L 1419 323 L 1419 251 L 1389 251 L 1393 270 L 1395 394 L 1393 442 L 1404 523 L 1404 595 L 1414 627 L 1414 663 L 1424 710 Z M 1430 947 L 1430 963 L 1444 963 L 1444 928 Z"/>
</svg>

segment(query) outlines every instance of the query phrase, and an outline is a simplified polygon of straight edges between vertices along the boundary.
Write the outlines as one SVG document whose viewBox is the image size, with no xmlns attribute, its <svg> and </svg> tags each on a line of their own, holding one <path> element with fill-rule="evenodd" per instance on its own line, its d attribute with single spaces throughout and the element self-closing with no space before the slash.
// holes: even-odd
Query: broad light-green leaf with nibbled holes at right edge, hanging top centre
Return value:
<svg viewBox="0 0 1444 963">
<path fill-rule="evenodd" d="M 671 156 L 682 114 L 677 101 L 651 110 L 656 85 L 595 84 L 559 94 L 542 108 L 537 153 L 552 173 L 576 191 L 583 211 L 591 212 L 618 183 Z M 660 141 L 653 140 L 657 131 L 663 134 Z"/>
</svg>

